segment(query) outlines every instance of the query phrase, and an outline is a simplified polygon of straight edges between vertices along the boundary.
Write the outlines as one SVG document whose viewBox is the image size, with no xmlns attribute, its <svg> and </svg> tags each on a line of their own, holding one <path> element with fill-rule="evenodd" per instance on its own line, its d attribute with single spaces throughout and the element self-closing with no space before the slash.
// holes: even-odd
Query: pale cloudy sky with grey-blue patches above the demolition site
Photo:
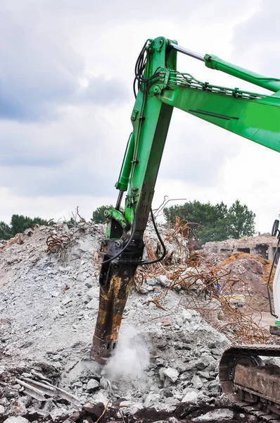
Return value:
<svg viewBox="0 0 280 423">
<path fill-rule="evenodd" d="M 0 220 L 13 213 L 68 218 L 115 203 L 131 132 L 134 64 L 164 36 L 280 77 L 279 0 L 1 0 Z M 178 54 L 179 71 L 264 92 Z M 270 231 L 280 211 L 279 155 L 174 110 L 153 207 L 164 195 L 236 199 Z"/>
</svg>

